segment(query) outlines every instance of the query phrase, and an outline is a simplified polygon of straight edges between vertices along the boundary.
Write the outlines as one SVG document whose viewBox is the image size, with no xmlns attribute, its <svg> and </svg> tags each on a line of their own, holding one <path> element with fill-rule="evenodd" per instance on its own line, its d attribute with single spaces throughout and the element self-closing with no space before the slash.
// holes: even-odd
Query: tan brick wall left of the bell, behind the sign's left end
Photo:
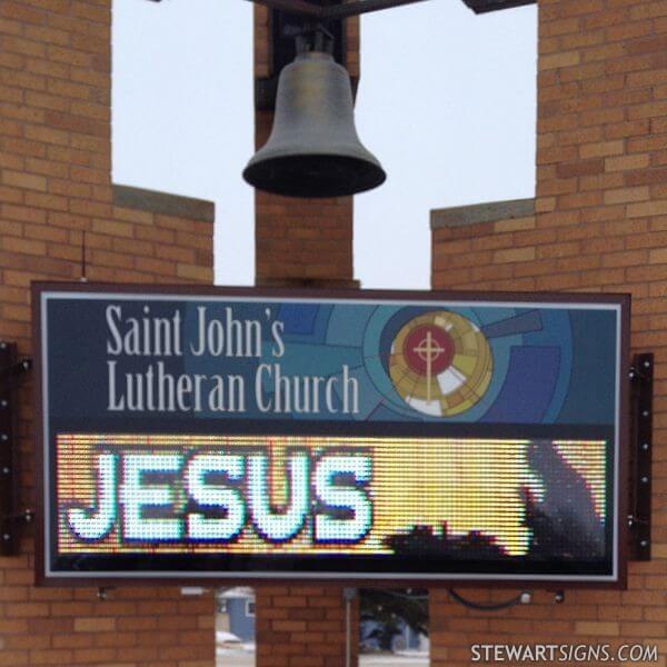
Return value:
<svg viewBox="0 0 667 667">
<path fill-rule="evenodd" d="M 109 0 L 0 2 L 0 338 L 30 355 L 31 280 L 212 281 L 212 205 L 113 187 Z M 21 507 L 33 507 L 30 385 Z M 2 509 L 4 511 L 6 508 Z M 0 557 L 0 665 L 197 667 L 213 603 L 176 588 L 36 588 L 32 530 Z"/>
</svg>

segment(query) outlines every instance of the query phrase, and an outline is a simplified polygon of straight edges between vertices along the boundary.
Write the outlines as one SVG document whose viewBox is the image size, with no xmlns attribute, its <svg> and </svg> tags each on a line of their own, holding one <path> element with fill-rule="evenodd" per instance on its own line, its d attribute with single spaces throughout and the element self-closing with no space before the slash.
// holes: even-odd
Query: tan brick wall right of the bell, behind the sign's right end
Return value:
<svg viewBox="0 0 667 667">
<path fill-rule="evenodd" d="M 667 661 L 666 48 L 664 0 L 540 0 L 535 215 L 434 213 L 435 288 L 631 292 L 633 348 L 656 355 L 653 561 L 630 564 L 627 591 L 538 593 L 501 614 L 432 590 L 432 665 L 537 641 L 658 645 Z"/>
</svg>

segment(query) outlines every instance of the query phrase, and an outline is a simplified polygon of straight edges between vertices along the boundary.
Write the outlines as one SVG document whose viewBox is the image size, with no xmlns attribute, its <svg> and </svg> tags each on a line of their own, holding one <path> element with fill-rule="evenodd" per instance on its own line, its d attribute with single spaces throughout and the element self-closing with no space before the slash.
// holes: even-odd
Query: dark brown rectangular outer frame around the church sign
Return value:
<svg viewBox="0 0 667 667">
<path fill-rule="evenodd" d="M 427 575 L 424 578 L 396 575 L 370 576 L 365 573 L 308 573 L 297 570 L 295 573 L 261 573 L 258 576 L 253 571 L 242 573 L 209 573 L 193 571 L 191 575 L 185 570 L 179 573 L 158 573 L 157 576 L 148 576 L 139 573 L 131 576 L 128 570 L 111 573 L 89 571 L 84 575 L 53 575 L 47 570 L 46 561 L 46 535 L 44 521 L 48 514 L 46 475 L 46 452 L 49 442 L 44 439 L 48 431 L 48 398 L 46 391 L 44 355 L 46 338 L 42 340 L 43 296 L 51 292 L 58 293 L 91 293 L 106 296 L 118 296 L 119 299 L 130 295 L 161 297 L 172 295 L 176 298 L 209 297 L 236 298 L 248 300 L 276 299 L 276 300 L 342 300 L 342 301 L 387 301 L 406 302 L 410 305 L 428 305 L 429 302 L 446 303 L 485 303 L 489 306 L 514 305 L 555 307 L 561 305 L 564 308 L 577 305 L 604 305 L 618 308 L 618 357 L 617 357 L 617 388 L 616 388 L 616 476 L 614 478 L 615 501 L 613 508 L 615 548 L 613 560 L 615 564 L 615 576 L 613 578 L 571 578 L 554 576 L 528 576 L 516 575 L 490 575 L 490 576 L 466 576 L 452 575 Z M 501 588 L 546 588 L 560 590 L 568 588 L 598 588 L 598 589 L 623 589 L 627 587 L 627 561 L 628 561 L 628 532 L 627 532 L 627 504 L 629 491 L 629 356 L 630 356 L 630 296 L 625 293 L 585 293 L 585 292 L 510 292 L 510 291 L 417 291 L 417 290 L 355 290 L 355 289 L 310 289 L 310 288 L 253 288 L 253 287 L 215 287 L 200 285 L 136 285 L 136 283 L 77 283 L 37 281 L 32 283 L 32 335 L 33 358 L 36 368 L 34 378 L 34 434 L 36 434 L 36 583 L 39 586 L 155 586 L 160 585 L 240 585 L 250 583 L 253 586 L 276 585 L 295 581 L 328 583 L 336 585 L 357 586 L 429 586 L 429 587 L 501 587 Z M 446 437 L 446 436 L 444 436 Z M 173 576 L 172 576 L 173 575 Z"/>
</svg>

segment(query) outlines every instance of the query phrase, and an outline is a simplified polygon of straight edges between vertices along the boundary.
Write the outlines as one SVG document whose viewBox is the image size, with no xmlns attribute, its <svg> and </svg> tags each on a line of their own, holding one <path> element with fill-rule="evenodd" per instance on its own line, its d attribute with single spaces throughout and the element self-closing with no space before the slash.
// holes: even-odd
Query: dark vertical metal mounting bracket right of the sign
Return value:
<svg viewBox="0 0 667 667">
<path fill-rule="evenodd" d="M 635 355 L 630 368 L 631 451 L 628 532 L 631 560 L 650 560 L 654 356 Z"/>
</svg>

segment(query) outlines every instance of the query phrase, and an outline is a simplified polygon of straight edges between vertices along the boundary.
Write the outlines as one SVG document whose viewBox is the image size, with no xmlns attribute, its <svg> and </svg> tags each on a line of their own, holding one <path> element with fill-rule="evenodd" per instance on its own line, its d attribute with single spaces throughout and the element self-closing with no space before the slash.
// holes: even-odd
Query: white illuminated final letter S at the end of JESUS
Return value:
<svg viewBox="0 0 667 667">
<path fill-rule="evenodd" d="M 327 508 L 345 510 L 354 515 L 349 519 L 335 519 L 326 514 L 315 517 L 315 540 L 325 542 L 359 541 L 372 521 L 372 506 L 360 484 L 370 481 L 370 457 L 327 456 L 317 464 L 315 490 Z M 352 475 L 354 482 L 336 485 L 338 475 Z"/>
</svg>

